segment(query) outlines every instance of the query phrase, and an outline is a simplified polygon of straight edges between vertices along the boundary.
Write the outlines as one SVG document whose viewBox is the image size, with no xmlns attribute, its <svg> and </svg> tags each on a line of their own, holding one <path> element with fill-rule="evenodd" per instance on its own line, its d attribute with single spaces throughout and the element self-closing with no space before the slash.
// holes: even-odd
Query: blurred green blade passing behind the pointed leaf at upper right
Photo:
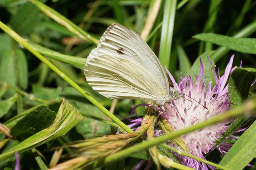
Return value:
<svg viewBox="0 0 256 170">
<path fill-rule="evenodd" d="M 241 29 L 239 32 L 233 35 L 233 37 L 239 38 L 239 37 L 248 37 L 250 34 L 253 34 L 253 32 L 256 31 L 256 21 L 248 24 L 243 29 Z M 217 62 L 219 59 L 221 59 L 222 56 L 227 54 L 227 52 L 230 51 L 227 47 L 219 47 L 214 54 L 212 54 L 211 59 L 214 62 Z"/>
</svg>

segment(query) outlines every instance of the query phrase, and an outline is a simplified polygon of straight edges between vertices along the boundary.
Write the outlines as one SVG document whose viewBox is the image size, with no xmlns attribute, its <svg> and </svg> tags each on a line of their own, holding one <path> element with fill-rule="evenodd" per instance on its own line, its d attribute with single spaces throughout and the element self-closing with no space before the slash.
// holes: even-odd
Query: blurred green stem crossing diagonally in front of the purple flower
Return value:
<svg viewBox="0 0 256 170">
<path fill-rule="evenodd" d="M 112 161 L 116 161 L 116 160 L 119 160 L 119 159 L 124 159 L 124 158 L 130 156 L 133 153 L 137 153 L 140 150 L 148 149 L 149 147 L 152 147 L 154 145 L 158 145 L 158 144 L 161 144 L 163 142 L 169 141 L 169 140 L 174 139 L 174 138 L 176 138 L 178 136 L 181 136 L 183 134 L 186 134 L 186 133 L 189 133 L 189 132 L 192 132 L 192 131 L 195 131 L 195 130 L 198 130 L 198 129 L 201 129 L 201 128 L 204 128 L 204 127 L 207 127 L 207 126 L 210 126 L 210 125 L 213 125 L 213 124 L 218 123 L 218 122 L 223 122 L 226 119 L 234 118 L 234 117 L 242 115 L 244 113 L 249 114 L 250 111 L 255 111 L 255 109 L 256 109 L 256 98 L 248 100 L 247 102 L 245 102 L 244 105 L 242 105 L 238 108 L 235 108 L 233 110 L 227 111 L 226 113 L 223 113 L 219 116 L 215 116 L 212 119 L 208 119 L 204 122 L 192 125 L 190 127 L 186 127 L 186 128 L 183 128 L 181 130 L 177 130 L 177 131 L 172 132 L 172 133 L 164 134 L 163 136 L 159 136 L 159 137 L 156 137 L 152 140 L 148 140 L 146 142 L 141 142 L 141 143 L 136 144 L 132 147 L 128 147 L 124 150 L 121 150 L 121 151 L 119 151 L 119 152 L 117 152 L 113 155 L 110 155 L 110 156 L 106 157 L 104 162 L 102 162 L 102 161 L 96 162 L 94 164 L 93 168 L 102 166 L 103 163 L 107 164 L 107 163 L 110 163 Z"/>
</svg>

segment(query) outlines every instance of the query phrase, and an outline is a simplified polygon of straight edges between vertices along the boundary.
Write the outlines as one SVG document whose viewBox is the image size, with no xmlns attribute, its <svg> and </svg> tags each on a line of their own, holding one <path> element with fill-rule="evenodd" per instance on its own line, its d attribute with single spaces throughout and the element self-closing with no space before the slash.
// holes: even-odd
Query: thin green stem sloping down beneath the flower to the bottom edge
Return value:
<svg viewBox="0 0 256 170">
<path fill-rule="evenodd" d="M 192 158 L 192 159 L 195 159 L 195 160 L 204 162 L 204 163 L 209 164 L 209 165 L 212 165 L 212 166 L 214 166 L 214 167 L 218 167 L 218 168 L 220 168 L 220 169 L 222 169 L 222 170 L 228 170 L 227 168 L 222 167 L 222 166 L 220 166 L 220 165 L 218 165 L 218 164 L 215 164 L 215 163 L 213 163 L 213 162 L 211 162 L 211 161 L 207 161 L 207 160 L 205 160 L 205 159 L 201 159 L 201 158 L 199 158 L 199 157 L 197 157 L 197 156 L 194 156 L 194 155 L 191 155 L 191 154 L 189 154 L 189 153 L 183 152 L 183 151 L 178 150 L 178 149 L 176 149 L 176 148 L 174 148 L 174 147 L 170 147 L 170 146 L 167 145 L 167 144 L 161 144 L 161 146 L 166 147 L 166 148 L 168 148 L 169 150 L 172 150 L 172 151 L 174 151 L 175 153 L 178 153 L 179 155 L 187 156 L 187 157 L 189 157 L 189 158 Z"/>
</svg>

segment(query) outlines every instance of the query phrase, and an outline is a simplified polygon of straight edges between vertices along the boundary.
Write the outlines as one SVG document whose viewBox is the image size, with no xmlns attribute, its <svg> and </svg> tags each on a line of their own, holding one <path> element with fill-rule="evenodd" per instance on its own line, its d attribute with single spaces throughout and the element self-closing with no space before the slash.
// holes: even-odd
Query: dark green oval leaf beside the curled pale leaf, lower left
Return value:
<svg viewBox="0 0 256 170">
<path fill-rule="evenodd" d="M 22 135 L 23 139 L 38 133 L 52 125 L 56 118 L 56 113 L 43 105 L 30 112 L 20 119 L 11 129 L 12 136 Z"/>
</svg>

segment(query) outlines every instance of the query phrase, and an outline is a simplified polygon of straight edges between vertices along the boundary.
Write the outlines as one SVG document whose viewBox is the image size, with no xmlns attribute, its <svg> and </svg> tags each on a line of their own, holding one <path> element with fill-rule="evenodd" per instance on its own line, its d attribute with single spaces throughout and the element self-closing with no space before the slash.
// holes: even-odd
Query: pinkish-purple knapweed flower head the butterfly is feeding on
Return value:
<svg viewBox="0 0 256 170">
<path fill-rule="evenodd" d="M 206 84 L 205 79 L 202 79 L 204 67 L 201 58 L 200 74 L 198 77 L 195 75 L 194 81 L 192 81 L 191 76 L 186 75 L 185 78 L 181 77 L 180 83 L 176 83 L 172 74 L 168 71 L 169 77 L 173 82 L 173 88 L 171 88 L 171 90 L 180 91 L 181 94 L 184 94 L 183 98 L 186 98 L 172 100 L 170 103 L 165 103 L 163 105 L 165 112 L 162 113 L 161 116 L 169 122 L 174 130 L 179 130 L 193 124 L 203 122 L 230 109 L 231 103 L 229 102 L 230 96 L 228 95 L 227 80 L 229 75 L 236 68 L 232 68 L 233 58 L 234 55 L 230 58 L 224 75 L 221 77 L 217 76 L 215 70 L 213 70 L 215 77 L 215 85 L 213 87 L 212 82 Z M 210 59 L 209 62 L 212 65 Z M 198 102 L 195 102 L 194 100 Z M 232 120 L 220 122 L 201 130 L 187 133 L 180 136 L 180 138 L 186 144 L 186 147 L 192 155 L 205 159 L 204 155 L 213 149 L 214 142 L 217 141 L 218 137 L 225 132 L 231 122 Z M 160 133 L 158 132 L 158 134 Z M 177 147 L 173 142 L 169 142 L 169 144 L 172 145 L 172 147 Z M 207 164 L 195 159 L 181 155 L 177 156 L 182 164 L 197 170 L 207 170 L 208 167 L 214 169 L 214 167 L 210 165 L 207 167 Z"/>
</svg>

